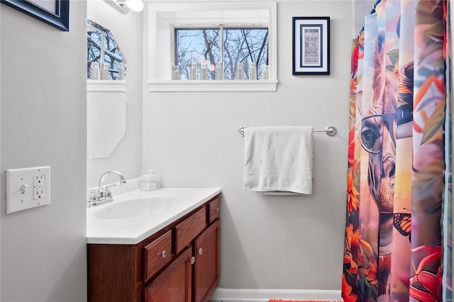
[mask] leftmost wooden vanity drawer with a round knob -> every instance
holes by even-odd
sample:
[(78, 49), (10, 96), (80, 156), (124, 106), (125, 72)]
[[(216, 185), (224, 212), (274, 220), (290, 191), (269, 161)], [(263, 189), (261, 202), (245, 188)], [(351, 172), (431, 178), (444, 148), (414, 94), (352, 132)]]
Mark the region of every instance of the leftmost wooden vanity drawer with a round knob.
[(143, 254), (143, 280), (146, 281), (172, 259), (172, 231), (143, 247)]

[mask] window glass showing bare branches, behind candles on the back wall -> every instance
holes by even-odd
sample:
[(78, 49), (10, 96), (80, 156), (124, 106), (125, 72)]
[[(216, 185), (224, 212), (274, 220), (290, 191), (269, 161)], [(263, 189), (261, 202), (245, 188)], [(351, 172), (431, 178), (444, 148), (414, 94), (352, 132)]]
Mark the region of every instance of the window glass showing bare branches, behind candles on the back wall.
[(268, 65), (268, 28), (175, 28), (174, 43), (178, 79), (191, 78), (191, 63), (198, 79), (202, 65), (206, 79), (262, 79)]

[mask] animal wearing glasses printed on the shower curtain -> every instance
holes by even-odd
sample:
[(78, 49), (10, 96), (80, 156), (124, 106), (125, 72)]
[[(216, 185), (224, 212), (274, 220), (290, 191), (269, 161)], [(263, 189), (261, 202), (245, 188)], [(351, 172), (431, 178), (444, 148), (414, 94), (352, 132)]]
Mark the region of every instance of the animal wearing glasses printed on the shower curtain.
[(380, 31), (372, 59), (372, 106), (361, 121), (361, 145), (369, 153), (367, 181), (380, 213), (377, 301), (389, 301), (399, 86), (397, 72), (385, 71), (384, 56), (384, 31)]

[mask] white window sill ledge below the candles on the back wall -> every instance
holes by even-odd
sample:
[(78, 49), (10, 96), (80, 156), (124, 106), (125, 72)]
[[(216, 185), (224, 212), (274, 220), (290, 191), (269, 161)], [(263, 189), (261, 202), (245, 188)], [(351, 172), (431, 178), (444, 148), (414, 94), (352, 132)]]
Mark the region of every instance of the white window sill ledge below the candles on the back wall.
[(148, 91), (276, 91), (277, 79), (148, 80)]

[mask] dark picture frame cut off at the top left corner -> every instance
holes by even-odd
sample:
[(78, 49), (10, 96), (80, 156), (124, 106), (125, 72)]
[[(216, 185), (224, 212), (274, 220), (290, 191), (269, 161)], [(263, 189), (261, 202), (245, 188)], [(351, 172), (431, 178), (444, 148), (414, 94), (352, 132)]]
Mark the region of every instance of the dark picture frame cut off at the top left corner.
[(1, 3), (11, 6), (13, 9), (37, 18), (40, 21), (48, 23), (50, 26), (63, 31), (70, 30), (70, 0), (48, 0), (46, 5), (53, 7), (55, 10), (46, 9), (40, 6), (39, 1), (33, 0), (0, 0)]

